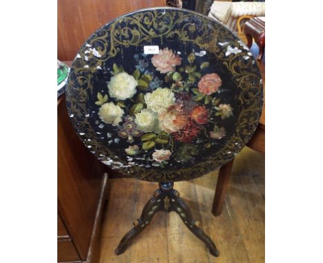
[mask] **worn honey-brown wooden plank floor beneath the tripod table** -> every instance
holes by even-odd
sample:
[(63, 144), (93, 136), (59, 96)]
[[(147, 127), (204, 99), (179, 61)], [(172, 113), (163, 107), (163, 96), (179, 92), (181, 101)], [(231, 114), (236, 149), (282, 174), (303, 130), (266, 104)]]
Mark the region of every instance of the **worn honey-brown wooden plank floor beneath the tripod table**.
[(220, 251), (213, 257), (176, 213), (159, 212), (124, 254), (115, 255), (123, 235), (133, 227), (157, 183), (111, 180), (110, 201), (101, 229), (100, 263), (260, 263), (264, 262), (264, 156), (247, 147), (235, 158), (224, 211), (211, 213), (217, 172), (185, 182), (175, 189)]

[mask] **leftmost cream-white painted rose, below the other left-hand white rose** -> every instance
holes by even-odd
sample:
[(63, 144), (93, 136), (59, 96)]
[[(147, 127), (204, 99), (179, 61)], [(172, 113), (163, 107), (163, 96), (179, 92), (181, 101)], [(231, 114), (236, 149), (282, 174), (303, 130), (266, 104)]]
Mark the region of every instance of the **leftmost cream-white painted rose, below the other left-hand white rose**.
[(114, 103), (104, 103), (99, 109), (99, 116), (104, 123), (117, 126), (121, 121), (121, 117), (124, 115), (124, 110)]

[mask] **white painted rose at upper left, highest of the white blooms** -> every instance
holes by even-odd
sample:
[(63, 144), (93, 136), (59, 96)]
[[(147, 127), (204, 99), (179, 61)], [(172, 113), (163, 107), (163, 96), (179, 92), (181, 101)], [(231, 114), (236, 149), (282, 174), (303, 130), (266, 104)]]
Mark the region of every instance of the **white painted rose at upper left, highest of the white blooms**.
[(126, 72), (121, 72), (112, 76), (108, 83), (109, 94), (112, 98), (124, 101), (126, 98), (131, 98), (137, 92), (137, 81)]

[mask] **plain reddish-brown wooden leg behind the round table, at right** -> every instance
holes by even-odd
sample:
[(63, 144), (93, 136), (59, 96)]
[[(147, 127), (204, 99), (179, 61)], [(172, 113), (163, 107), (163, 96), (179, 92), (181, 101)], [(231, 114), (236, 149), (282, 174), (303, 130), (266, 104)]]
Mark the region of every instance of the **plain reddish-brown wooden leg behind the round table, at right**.
[(226, 190), (228, 189), (228, 182), (231, 176), (233, 160), (219, 169), (219, 177), (217, 178), (217, 187), (215, 189), (215, 196), (212, 207), (212, 213), (215, 216), (221, 215), (222, 213), (224, 198), (226, 197)]

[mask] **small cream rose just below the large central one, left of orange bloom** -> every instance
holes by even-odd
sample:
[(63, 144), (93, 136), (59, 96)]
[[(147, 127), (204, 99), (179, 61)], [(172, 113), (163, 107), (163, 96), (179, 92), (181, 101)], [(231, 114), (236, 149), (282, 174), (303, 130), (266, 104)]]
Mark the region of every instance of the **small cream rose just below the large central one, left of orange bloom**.
[(141, 112), (135, 114), (135, 123), (137, 129), (144, 132), (153, 132), (158, 129), (157, 114), (150, 109), (141, 109)]

